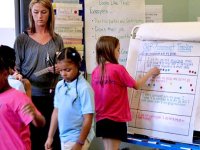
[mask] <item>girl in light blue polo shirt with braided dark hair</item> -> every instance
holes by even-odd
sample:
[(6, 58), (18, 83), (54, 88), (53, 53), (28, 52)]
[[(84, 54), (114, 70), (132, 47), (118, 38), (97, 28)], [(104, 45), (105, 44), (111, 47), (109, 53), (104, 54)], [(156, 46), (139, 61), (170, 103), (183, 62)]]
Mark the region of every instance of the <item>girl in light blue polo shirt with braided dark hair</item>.
[(74, 48), (64, 48), (57, 57), (60, 75), (55, 89), (54, 110), (45, 149), (51, 149), (58, 127), (62, 150), (87, 150), (94, 137), (94, 95), (80, 73), (81, 57)]

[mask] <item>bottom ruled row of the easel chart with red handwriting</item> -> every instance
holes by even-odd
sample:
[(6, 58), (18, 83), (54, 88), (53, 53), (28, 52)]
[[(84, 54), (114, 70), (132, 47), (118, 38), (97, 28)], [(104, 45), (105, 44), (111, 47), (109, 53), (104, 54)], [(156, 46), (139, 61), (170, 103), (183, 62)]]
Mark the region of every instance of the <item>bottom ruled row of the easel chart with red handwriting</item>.
[[(133, 120), (128, 124), (130, 127), (188, 135), (190, 117), (146, 111), (132, 111), (132, 116), (134, 116)], [(152, 124), (152, 122), (155, 122), (155, 124)]]

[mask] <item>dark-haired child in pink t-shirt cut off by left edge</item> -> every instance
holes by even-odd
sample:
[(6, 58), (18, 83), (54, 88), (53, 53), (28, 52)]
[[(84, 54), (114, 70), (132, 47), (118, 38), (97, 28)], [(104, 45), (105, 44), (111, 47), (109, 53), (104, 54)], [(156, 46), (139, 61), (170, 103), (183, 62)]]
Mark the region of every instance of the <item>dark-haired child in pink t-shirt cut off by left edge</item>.
[(29, 124), (41, 127), (45, 119), (26, 94), (10, 87), (9, 70), (15, 66), (10, 50), (0, 46), (0, 150), (30, 150)]

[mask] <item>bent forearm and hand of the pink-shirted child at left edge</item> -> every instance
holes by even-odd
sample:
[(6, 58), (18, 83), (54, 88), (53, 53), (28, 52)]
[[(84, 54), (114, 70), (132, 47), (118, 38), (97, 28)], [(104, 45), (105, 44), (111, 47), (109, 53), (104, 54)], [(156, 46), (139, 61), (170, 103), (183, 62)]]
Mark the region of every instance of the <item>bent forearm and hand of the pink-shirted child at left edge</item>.
[(33, 103), (29, 103), (23, 106), (22, 111), (33, 117), (32, 123), (35, 127), (43, 127), (46, 123), (45, 118), (40, 114)]

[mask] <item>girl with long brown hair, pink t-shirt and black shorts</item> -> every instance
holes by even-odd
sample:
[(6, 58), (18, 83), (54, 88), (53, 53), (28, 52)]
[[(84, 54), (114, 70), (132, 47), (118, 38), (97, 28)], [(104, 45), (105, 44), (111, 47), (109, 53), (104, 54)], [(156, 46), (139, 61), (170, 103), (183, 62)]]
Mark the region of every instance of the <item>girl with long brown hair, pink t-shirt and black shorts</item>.
[(96, 44), (98, 66), (92, 72), (92, 87), (95, 93), (96, 136), (103, 138), (105, 150), (118, 150), (121, 141), (127, 140), (126, 122), (131, 120), (127, 87), (139, 89), (148, 78), (160, 70), (150, 69), (135, 81), (118, 63), (119, 40), (102, 36)]

